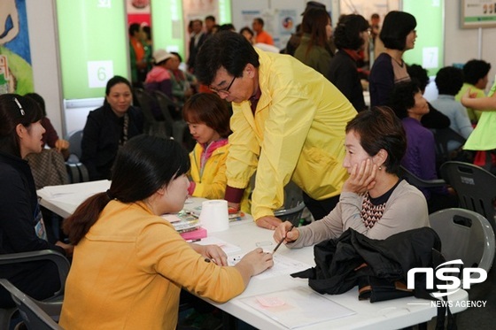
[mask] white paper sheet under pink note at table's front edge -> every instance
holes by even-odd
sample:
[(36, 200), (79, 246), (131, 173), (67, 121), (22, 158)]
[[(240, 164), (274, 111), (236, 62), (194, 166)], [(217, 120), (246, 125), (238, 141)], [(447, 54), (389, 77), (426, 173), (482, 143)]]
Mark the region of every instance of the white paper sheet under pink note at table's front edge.
[[(283, 305), (266, 307), (260, 303), (261, 299), (277, 300), (283, 302)], [(319, 295), (311, 288), (301, 287), (249, 296), (241, 299), (241, 302), (289, 329), (310, 326), (335, 318), (345, 318), (356, 313), (333, 302), (325, 295)]]

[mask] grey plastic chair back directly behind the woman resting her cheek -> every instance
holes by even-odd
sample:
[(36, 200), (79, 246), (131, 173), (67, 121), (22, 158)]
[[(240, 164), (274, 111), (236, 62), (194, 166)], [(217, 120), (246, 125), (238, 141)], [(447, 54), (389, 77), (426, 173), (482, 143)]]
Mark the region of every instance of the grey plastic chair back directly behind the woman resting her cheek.
[(480, 267), (489, 272), (495, 241), (487, 219), (475, 211), (453, 208), (434, 212), (429, 220), (441, 239), (446, 261), (461, 259), (464, 267)]

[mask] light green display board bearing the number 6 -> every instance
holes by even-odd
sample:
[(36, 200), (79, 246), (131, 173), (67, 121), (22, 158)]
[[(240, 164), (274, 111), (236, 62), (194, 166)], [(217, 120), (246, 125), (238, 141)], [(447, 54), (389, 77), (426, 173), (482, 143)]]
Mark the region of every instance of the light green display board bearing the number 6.
[(129, 78), (123, 1), (57, 0), (64, 99), (105, 96), (113, 75)]

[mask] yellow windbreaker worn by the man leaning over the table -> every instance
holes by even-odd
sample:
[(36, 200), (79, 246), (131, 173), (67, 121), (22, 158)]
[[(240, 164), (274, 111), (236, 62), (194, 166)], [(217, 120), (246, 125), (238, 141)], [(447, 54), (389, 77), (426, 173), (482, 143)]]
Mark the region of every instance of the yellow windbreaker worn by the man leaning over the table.
[(233, 103), (227, 159), (228, 185), (245, 188), (256, 171), (253, 219), (274, 215), (293, 180), (308, 196), (337, 196), (347, 172), (345, 126), (353, 105), (321, 73), (291, 56), (257, 50), (261, 97)]

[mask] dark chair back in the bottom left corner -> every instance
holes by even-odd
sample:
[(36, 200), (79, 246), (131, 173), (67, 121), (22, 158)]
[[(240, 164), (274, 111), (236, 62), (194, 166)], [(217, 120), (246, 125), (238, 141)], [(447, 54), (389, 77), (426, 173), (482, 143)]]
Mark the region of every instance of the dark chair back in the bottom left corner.
[(43, 310), (43, 305), (39, 305), (34, 299), (23, 294), (18, 288), (14, 287), (9, 280), (0, 279), (0, 285), (11, 293), (12, 300), (17, 304), (20, 316), (27, 326), (27, 329), (62, 329), (62, 327), (58, 326), (57, 322), (50, 317), (47, 311)]

